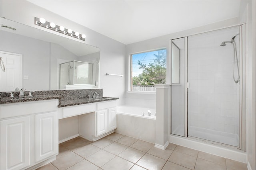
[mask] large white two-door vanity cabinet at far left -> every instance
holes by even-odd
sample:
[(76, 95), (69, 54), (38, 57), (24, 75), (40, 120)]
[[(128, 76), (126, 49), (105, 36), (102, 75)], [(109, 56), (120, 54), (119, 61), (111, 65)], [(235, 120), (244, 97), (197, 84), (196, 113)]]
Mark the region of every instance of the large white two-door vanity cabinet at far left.
[(58, 99), (1, 104), (0, 169), (34, 169), (58, 154)]

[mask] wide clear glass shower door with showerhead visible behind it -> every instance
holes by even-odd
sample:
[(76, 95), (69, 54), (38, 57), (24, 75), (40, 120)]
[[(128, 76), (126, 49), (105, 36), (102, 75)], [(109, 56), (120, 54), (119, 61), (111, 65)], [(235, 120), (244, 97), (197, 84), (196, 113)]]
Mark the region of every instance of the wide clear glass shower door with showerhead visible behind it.
[(240, 147), (241, 34), (238, 26), (188, 37), (188, 137)]

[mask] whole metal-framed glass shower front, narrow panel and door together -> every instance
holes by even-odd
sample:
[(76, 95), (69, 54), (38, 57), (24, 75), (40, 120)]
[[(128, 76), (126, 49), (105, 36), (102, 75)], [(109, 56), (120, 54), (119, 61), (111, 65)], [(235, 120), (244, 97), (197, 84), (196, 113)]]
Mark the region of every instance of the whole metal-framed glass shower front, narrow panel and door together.
[(171, 43), (171, 133), (242, 149), (242, 25)]

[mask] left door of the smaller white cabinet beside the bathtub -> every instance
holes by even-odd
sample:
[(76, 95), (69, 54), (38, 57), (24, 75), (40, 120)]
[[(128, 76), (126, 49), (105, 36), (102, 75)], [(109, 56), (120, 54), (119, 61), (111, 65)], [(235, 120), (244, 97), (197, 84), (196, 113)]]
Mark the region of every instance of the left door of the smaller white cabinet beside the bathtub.
[(102, 135), (107, 132), (107, 110), (96, 112), (96, 135)]

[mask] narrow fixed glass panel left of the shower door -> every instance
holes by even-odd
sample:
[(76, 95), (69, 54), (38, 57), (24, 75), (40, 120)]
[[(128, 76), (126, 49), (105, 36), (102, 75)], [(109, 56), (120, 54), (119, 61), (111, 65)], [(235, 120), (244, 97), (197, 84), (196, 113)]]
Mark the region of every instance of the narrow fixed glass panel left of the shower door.
[(172, 134), (185, 135), (184, 127), (184, 101), (187, 81), (185, 79), (186, 67), (185, 38), (172, 40)]

